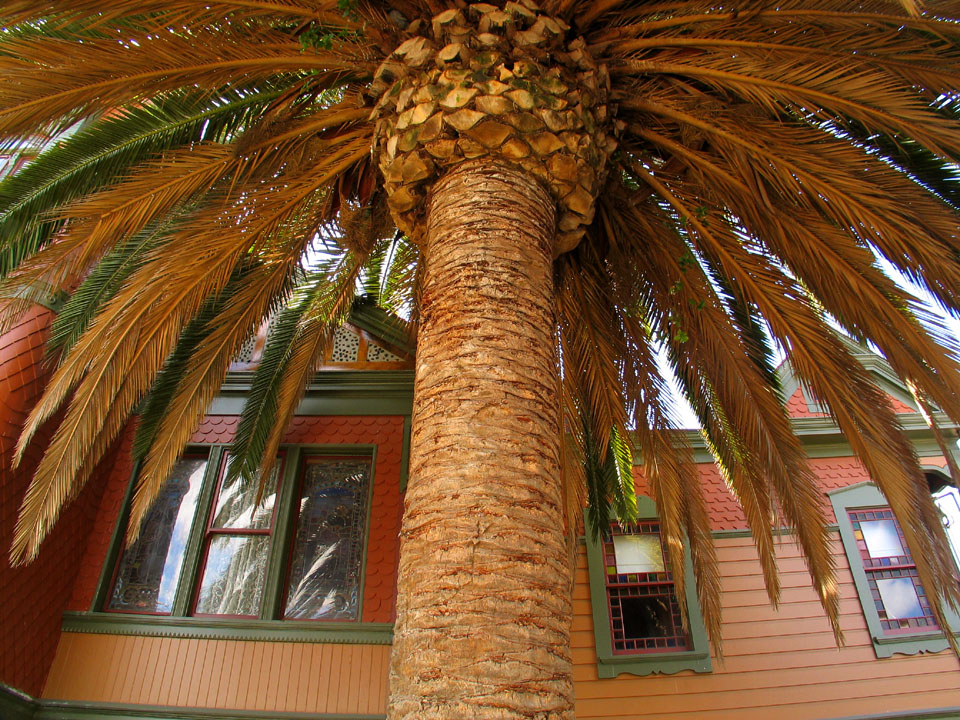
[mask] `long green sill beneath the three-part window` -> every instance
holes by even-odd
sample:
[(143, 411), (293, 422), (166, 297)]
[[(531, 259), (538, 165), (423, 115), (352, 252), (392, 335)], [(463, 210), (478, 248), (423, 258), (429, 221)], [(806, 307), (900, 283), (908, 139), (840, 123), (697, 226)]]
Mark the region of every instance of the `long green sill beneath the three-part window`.
[(247, 620), (66, 612), (63, 632), (142, 635), (196, 640), (390, 645), (392, 623), (344, 623), (310, 620)]

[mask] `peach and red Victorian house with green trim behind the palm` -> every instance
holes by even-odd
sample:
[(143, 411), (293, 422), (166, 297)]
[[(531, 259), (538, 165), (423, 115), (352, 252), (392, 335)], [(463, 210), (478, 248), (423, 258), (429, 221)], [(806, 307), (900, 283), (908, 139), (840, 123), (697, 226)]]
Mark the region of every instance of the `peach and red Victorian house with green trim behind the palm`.
[[(42, 383), (40, 331), (51, 312), (38, 309), (0, 339), (5, 548), (38, 460), (28, 453), (22, 470), (10, 469), (13, 437)], [(412, 348), (377, 311), (354, 312), (255, 509), (250, 488), (225, 482), (225, 448), (264, 332), (238, 358), (137, 543), (124, 534), (135, 473), (128, 429), (38, 560), (12, 569), (4, 554), (0, 717), (384, 716)], [(940, 449), (882, 359), (861, 359), (900, 413), (960, 548), (960, 495)], [(684, 630), (656, 508), (641, 498), (635, 526), (578, 545), (581, 720), (960, 718), (960, 665), (885, 500), (789, 368), (781, 372), (834, 523), (845, 647), (785, 533), (781, 604), (769, 606), (743, 513), (691, 433), (722, 568), (724, 657), (711, 655), (692, 593)]]

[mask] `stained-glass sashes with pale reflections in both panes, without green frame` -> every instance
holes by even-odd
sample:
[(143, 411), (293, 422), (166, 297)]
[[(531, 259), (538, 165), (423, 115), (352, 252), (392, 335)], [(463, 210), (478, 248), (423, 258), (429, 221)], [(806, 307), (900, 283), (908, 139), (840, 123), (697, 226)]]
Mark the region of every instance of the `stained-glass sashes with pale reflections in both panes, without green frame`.
[(938, 629), (893, 511), (870, 508), (851, 510), (848, 514), (884, 632), (895, 635)]

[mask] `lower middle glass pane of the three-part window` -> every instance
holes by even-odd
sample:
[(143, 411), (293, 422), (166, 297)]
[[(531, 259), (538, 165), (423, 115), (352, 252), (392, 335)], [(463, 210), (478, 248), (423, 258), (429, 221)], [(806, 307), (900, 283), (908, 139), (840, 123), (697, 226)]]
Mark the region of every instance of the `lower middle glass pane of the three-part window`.
[(214, 535), (195, 612), (259, 615), (269, 547), (268, 535)]

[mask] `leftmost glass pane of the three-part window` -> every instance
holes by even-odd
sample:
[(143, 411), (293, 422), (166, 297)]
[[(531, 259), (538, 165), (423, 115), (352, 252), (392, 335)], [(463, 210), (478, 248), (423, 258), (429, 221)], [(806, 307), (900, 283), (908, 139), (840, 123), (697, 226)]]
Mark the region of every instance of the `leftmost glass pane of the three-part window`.
[(207, 461), (184, 458), (147, 513), (140, 538), (124, 549), (108, 610), (169, 613)]

